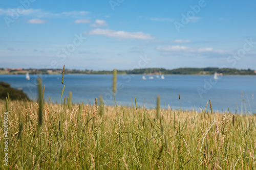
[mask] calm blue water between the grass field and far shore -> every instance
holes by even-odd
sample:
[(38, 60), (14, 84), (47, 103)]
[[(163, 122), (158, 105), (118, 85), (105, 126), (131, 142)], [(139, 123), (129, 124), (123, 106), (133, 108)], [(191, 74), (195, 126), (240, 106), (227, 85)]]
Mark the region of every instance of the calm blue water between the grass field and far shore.
[[(41, 75), (45, 88), (45, 99), (60, 102), (62, 90), (62, 75)], [(142, 75), (118, 75), (116, 101), (118, 105), (135, 105), (134, 98), (139, 106), (155, 107), (157, 96), (161, 96), (161, 106), (173, 108), (199, 110), (211, 100), (214, 110), (256, 112), (256, 103), (253, 94), (256, 93), (255, 76), (222, 76), (214, 80), (213, 76), (174, 76), (166, 75), (165, 79), (142, 80)], [(0, 81), (11, 84), (14, 88), (23, 88), (29, 98), (37, 97), (37, 75), (31, 75), (26, 80), (25, 75), (0, 75)], [(103, 96), (106, 105), (114, 105), (112, 93), (112, 75), (65, 75), (66, 85), (63, 96), (72, 91), (72, 100), (75, 103), (94, 103), (95, 98)], [(243, 93), (243, 95), (242, 95)], [(179, 94), (181, 100), (179, 100)], [(63, 97), (64, 98), (64, 97)], [(63, 100), (63, 99), (62, 99)], [(243, 101), (243, 102), (242, 102)], [(209, 107), (207, 107), (209, 109)]]

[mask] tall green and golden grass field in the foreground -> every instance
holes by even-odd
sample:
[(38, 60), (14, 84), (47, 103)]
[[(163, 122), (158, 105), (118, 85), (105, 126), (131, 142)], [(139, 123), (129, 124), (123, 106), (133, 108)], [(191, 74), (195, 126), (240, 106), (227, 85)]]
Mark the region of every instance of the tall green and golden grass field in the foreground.
[[(253, 169), (253, 115), (0, 101), (12, 169)], [(8, 107), (8, 108), (7, 108)], [(40, 120), (40, 112), (42, 120)], [(41, 126), (39, 125), (41, 122)], [(6, 168), (1, 161), (1, 168)]]

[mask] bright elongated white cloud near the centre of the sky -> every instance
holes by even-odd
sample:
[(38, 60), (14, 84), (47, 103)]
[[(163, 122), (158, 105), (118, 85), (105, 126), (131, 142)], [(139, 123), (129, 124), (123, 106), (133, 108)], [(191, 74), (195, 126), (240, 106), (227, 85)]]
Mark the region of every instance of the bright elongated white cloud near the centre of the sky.
[(123, 39), (154, 39), (150, 34), (143, 32), (125, 32), (125, 31), (114, 31), (108, 29), (95, 29), (88, 33), (89, 35), (104, 35), (106, 37), (115, 37)]

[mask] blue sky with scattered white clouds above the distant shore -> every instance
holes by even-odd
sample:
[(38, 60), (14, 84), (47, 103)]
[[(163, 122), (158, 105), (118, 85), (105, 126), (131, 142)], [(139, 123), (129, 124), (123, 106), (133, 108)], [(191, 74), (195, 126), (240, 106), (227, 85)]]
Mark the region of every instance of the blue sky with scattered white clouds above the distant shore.
[(252, 0), (5, 0), (0, 67), (256, 69), (255, 7)]

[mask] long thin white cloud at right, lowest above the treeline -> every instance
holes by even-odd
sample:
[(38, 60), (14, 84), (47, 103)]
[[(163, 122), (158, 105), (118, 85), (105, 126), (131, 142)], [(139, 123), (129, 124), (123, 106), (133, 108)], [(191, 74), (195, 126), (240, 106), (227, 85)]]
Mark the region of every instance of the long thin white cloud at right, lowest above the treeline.
[(168, 46), (158, 46), (158, 51), (163, 52), (165, 54), (166, 52), (184, 52), (184, 53), (230, 53), (230, 51), (227, 50), (214, 50), (214, 48), (211, 47), (205, 47), (205, 48), (195, 48), (195, 47), (188, 47), (188, 46), (180, 46), (180, 45), (168, 45)]

